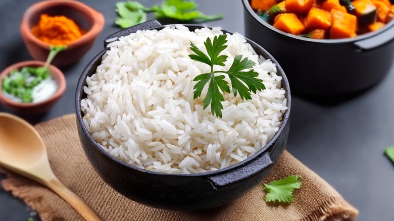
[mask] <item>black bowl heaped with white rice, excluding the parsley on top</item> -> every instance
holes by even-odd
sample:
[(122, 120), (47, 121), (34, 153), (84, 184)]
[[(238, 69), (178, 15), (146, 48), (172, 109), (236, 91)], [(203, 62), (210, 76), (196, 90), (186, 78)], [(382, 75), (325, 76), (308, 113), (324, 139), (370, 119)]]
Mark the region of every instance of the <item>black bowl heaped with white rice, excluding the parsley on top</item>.
[[(220, 34), (228, 58), (217, 68), (242, 54), (265, 85), (249, 100), (223, 92), (221, 118), (203, 107), (207, 88), (193, 99), (193, 79), (211, 67), (188, 57), (190, 42), (204, 51)], [(78, 82), (76, 114), (86, 156), (116, 191), (154, 207), (207, 209), (271, 171), (287, 142), (290, 89), (275, 59), (240, 34), (149, 21), (106, 38)]]

